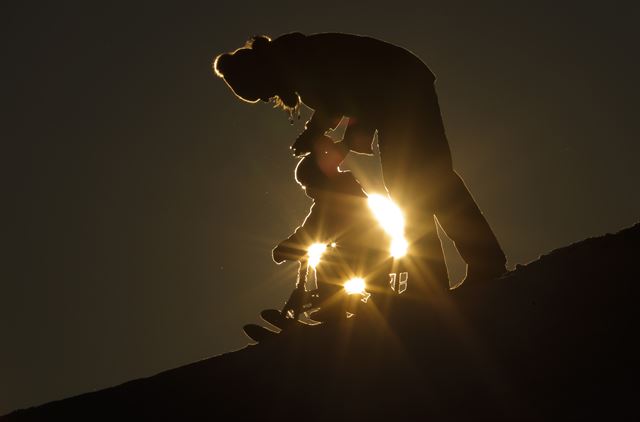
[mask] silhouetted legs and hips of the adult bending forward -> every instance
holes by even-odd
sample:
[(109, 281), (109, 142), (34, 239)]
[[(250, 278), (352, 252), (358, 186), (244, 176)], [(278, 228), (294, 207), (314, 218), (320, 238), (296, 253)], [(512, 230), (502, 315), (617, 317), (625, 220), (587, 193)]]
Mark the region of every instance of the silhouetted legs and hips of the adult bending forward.
[[(432, 88), (407, 110), (384, 122), (378, 133), (382, 171), (392, 197), (407, 212), (415, 251), (428, 267), (435, 242), (423, 236), (433, 214), (468, 264), (468, 277), (495, 277), (505, 256), (464, 182), (453, 171), (437, 96)], [(436, 236), (437, 238), (437, 236)], [(441, 247), (440, 247), (441, 251)], [(444, 263), (444, 258), (442, 259)]]

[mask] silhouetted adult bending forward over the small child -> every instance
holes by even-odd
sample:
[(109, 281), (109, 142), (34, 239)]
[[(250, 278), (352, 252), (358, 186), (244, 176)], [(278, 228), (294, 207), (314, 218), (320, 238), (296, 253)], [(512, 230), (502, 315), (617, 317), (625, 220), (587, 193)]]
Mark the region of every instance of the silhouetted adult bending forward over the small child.
[(447, 280), (434, 214), (468, 264), (467, 281), (505, 272), (495, 235), (453, 170), (435, 76), (415, 55), (364, 36), (291, 33), (254, 37), (218, 56), (214, 70), (247, 102), (275, 98), (290, 112), (301, 102), (314, 110), (292, 146), (296, 155), (309, 152), (343, 116), (351, 151), (371, 154), (377, 131), (384, 183), (405, 212), (422, 278)]

